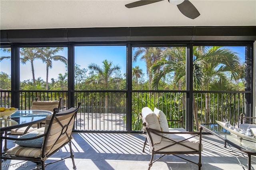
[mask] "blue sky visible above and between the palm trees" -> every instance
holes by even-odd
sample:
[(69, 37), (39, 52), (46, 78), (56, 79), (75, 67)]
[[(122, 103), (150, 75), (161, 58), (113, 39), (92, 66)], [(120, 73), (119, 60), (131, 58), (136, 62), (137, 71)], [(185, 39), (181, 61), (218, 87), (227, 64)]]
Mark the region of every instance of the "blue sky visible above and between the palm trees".
[[(244, 61), (245, 47), (228, 47), (232, 51), (238, 53), (241, 61)], [(64, 47), (64, 51), (61, 51), (59, 55), (67, 57), (68, 51)], [(8, 56), (10, 54), (0, 52), (0, 56)], [(80, 68), (88, 68), (91, 63), (96, 63), (102, 66), (102, 61), (107, 59), (112, 61), (112, 64), (119, 65), (121, 67), (122, 75), (126, 73), (126, 46), (77, 46), (75, 47), (75, 63), (80, 65)], [(138, 57), (137, 62), (132, 64), (132, 67), (139, 66), (142, 68), (146, 75), (146, 64)], [(35, 77), (41, 77), (46, 80), (46, 64), (42, 61), (34, 61)], [(20, 64), (20, 80), (32, 79), (31, 64)], [(2, 60), (0, 62), (0, 72), (6, 72), (10, 74), (10, 60)], [(58, 74), (64, 74), (66, 72), (65, 65), (60, 61), (53, 61), (52, 69), (49, 70), (49, 82), (51, 78), (57, 79)], [(89, 72), (89, 71), (88, 71)]]

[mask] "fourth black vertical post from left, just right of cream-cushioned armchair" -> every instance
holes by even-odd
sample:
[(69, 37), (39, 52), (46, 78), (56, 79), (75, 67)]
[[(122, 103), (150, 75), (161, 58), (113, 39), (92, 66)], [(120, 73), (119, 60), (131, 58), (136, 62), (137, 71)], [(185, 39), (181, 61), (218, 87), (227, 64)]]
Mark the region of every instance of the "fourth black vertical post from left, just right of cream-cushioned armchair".
[(193, 44), (186, 49), (186, 130), (193, 131)]

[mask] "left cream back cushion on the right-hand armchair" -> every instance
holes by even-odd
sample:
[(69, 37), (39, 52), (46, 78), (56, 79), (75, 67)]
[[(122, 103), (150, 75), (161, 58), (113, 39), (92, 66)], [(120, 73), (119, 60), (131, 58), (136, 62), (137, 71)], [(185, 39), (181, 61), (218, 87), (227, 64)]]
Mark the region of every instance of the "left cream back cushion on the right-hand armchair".
[[(161, 128), (158, 122), (158, 117), (149, 107), (143, 107), (141, 114), (142, 114), (143, 121), (146, 122), (146, 124), (148, 125), (148, 128), (161, 131)], [(153, 144), (161, 142), (162, 140), (161, 136), (153, 133), (151, 133), (150, 135), (152, 137)]]

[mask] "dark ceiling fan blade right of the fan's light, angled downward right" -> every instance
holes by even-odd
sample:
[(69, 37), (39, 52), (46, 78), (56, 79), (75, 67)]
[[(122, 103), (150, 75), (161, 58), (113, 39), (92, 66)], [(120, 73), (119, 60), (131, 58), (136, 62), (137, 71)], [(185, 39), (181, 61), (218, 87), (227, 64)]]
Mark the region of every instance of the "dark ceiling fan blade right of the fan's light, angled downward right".
[(178, 4), (177, 6), (180, 12), (188, 18), (195, 19), (200, 16), (200, 13), (196, 7), (189, 0), (184, 0), (184, 2)]

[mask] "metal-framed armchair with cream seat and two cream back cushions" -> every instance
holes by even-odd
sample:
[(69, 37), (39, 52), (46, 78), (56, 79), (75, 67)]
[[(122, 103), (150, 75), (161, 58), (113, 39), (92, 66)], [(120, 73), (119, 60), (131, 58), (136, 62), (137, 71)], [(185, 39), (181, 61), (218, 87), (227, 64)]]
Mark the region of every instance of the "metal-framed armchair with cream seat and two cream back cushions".
[[(144, 152), (145, 146), (149, 145), (149, 151), (152, 154), (148, 170), (150, 170), (154, 162), (170, 154), (192, 162), (198, 165), (199, 170), (201, 169), (201, 127), (199, 132), (188, 132), (183, 128), (169, 128), (165, 114), (156, 108), (152, 111), (149, 107), (144, 107), (141, 115), (143, 126), (146, 130), (146, 140), (148, 141), (148, 143), (144, 143), (142, 151)], [(153, 161), (155, 154), (161, 154), (162, 156)], [(198, 163), (177, 154), (198, 154)]]

